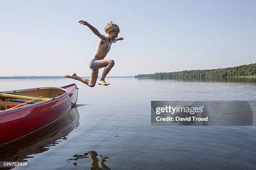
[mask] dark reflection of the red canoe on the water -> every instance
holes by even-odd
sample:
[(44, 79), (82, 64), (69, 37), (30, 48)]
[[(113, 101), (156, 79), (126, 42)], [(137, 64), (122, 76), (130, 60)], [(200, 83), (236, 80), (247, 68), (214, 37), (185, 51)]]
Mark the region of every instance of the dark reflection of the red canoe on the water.
[(79, 126), (77, 108), (72, 108), (64, 116), (44, 128), (37, 130), (23, 138), (0, 146), (0, 161), (19, 161), (33, 158), (31, 154), (38, 154), (50, 149), (67, 139), (67, 135)]

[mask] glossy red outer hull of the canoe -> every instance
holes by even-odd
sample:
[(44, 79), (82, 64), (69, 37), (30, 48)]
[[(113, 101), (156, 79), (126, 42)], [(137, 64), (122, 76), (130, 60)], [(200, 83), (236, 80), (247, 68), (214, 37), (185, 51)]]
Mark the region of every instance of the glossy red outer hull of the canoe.
[(77, 102), (75, 84), (64, 86), (67, 93), (29, 107), (0, 114), (0, 145), (32, 133), (67, 113)]

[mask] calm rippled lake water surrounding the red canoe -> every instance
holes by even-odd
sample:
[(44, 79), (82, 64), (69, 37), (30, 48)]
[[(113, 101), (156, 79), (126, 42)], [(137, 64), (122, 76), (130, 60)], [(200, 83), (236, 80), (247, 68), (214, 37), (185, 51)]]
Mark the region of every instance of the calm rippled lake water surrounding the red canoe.
[[(0, 148), (26, 170), (255, 170), (256, 126), (151, 126), (151, 100), (256, 101), (253, 78), (0, 80), (1, 91), (76, 83), (77, 107), (54, 124)], [(14, 168), (17, 169), (17, 168)]]

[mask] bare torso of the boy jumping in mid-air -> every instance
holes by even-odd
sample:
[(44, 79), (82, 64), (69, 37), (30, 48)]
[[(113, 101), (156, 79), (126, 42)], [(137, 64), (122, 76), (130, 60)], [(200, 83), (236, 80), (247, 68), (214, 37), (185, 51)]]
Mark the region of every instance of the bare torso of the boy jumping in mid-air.
[(99, 60), (104, 59), (110, 50), (111, 44), (112, 44), (111, 40), (106, 40), (105, 42), (100, 40), (98, 42), (98, 45), (96, 47), (93, 57), (96, 57)]

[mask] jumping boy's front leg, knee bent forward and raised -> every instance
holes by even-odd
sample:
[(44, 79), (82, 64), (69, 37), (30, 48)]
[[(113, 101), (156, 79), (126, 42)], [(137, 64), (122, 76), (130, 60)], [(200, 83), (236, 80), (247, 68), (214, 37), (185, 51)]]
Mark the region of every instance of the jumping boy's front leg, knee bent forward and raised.
[(105, 82), (105, 77), (114, 65), (115, 65), (114, 60), (110, 60), (110, 59), (97, 60), (97, 64), (94, 67), (95, 69), (105, 67), (100, 77), (100, 80), (98, 81), (99, 85), (110, 85), (110, 83)]

